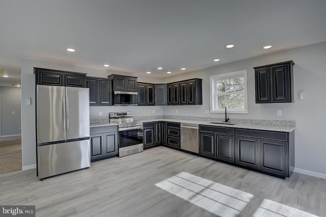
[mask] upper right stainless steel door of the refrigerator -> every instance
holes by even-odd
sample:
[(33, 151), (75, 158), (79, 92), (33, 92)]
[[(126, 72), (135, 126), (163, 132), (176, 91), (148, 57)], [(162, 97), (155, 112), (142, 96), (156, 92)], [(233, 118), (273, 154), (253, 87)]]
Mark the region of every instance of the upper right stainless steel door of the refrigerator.
[(89, 88), (66, 87), (66, 138), (90, 136)]

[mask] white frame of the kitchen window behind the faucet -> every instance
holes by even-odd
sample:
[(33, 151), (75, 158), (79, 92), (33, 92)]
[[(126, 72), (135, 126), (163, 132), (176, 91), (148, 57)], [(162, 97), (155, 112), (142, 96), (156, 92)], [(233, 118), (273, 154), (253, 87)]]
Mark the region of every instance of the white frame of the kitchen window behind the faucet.
[[(209, 99), (210, 99), (210, 112), (211, 113), (224, 113), (225, 109), (217, 109), (216, 103), (215, 103), (215, 96), (216, 96), (216, 81), (218, 80), (225, 80), (230, 78), (237, 78), (237, 77), (243, 77), (243, 85), (244, 85), (244, 91), (243, 91), (243, 103), (244, 108), (243, 109), (229, 109), (227, 108), (228, 113), (248, 113), (248, 85), (247, 85), (247, 70), (240, 70), (236, 72), (229, 72), (219, 75), (212, 75), (209, 76)], [(214, 104), (213, 104), (214, 102)]]

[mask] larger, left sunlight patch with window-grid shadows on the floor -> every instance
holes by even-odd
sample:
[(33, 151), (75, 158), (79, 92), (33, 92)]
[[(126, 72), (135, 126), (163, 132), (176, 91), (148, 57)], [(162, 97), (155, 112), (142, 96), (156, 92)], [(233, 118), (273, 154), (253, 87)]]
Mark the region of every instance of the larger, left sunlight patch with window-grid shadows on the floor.
[(178, 173), (155, 185), (221, 217), (240, 214), (254, 197), (247, 192), (186, 172)]

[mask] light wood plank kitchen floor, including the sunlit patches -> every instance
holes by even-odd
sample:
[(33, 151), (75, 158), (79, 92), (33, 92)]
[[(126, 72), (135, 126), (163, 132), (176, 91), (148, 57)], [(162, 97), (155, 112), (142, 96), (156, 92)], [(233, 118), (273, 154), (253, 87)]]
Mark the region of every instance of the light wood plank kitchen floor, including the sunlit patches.
[(36, 170), (0, 174), (0, 183), (0, 204), (36, 205), (36, 216), (326, 216), (325, 179), (283, 180), (162, 146), (43, 181)]

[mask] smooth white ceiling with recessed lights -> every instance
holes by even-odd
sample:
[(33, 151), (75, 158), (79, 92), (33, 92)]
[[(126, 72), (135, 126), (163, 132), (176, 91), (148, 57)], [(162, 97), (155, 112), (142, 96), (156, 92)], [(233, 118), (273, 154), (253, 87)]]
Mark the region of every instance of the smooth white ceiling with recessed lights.
[(0, 74), (11, 76), (0, 84), (20, 82), (21, 58), (173, 76), (326, 41), (325, 11), (325, 0), (0, 0)]

